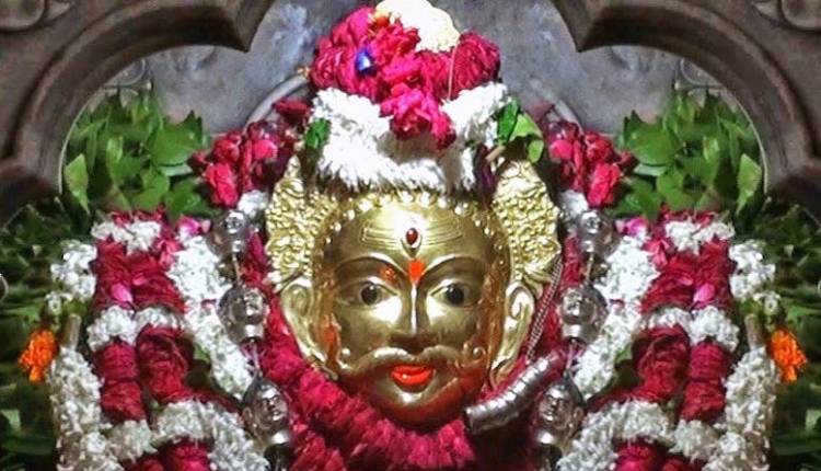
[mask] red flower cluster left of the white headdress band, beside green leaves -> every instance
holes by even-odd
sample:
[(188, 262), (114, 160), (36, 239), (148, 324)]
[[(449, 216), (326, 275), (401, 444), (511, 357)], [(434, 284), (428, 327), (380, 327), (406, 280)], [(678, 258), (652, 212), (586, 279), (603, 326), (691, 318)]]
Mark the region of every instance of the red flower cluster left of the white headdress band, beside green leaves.
[(203, 175), (215, 206), (233, 208), (244, 193), (268, 189), (285, 173), (309, 108), (291, 100), (275, 108), (280, 115), (277, 123), (257, 122), (244, 131), (228, 133), (210, 152), (192, 157), (189, 164)]

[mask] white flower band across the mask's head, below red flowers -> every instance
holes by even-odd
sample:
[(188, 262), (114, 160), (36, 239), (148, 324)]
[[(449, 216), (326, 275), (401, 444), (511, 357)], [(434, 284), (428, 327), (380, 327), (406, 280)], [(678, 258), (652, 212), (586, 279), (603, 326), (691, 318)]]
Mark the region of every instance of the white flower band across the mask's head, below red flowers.
[(331, 134), (317, 163), (319, 173), (338, 179), (352, 189), (425, 188), (448, 193), (471, 191), (476, 184), (471, 145), (492, 148), (497, 134), (494, 119), (509, 102), (507, 88), (490, 83), (463, 91), (446, 102), (455, 141), (432, 150), (427, 136), (400, 140), (391, 133), (391, 118), (367, 97), (337, 89), (322, 90), (313, 102), (313, 119), (331, 122)]

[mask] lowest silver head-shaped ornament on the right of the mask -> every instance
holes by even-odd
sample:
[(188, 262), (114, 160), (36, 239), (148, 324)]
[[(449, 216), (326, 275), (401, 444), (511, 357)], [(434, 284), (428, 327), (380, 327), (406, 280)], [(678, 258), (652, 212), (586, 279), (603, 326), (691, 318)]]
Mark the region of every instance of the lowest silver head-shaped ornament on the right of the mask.
[(541, 453), (548, 458), (545, 461), (568, 450), (583, 417), (583, 400), (569, 378), (554, 382), (542, 393), (536, 404), (533, 439)]

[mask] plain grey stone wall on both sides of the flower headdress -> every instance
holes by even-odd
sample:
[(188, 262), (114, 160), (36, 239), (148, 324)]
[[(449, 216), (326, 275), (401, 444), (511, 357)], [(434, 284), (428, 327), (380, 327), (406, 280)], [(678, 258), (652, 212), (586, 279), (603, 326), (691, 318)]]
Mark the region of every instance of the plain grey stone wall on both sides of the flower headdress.
[[(215, 131), (235, 128), (279, 82), (310, 65), (322, 34), (356, 0), (280, 0), (271, 5), (247, 54), (212, 46), (181, 47), (144, 60), (162, 102), (177, 117), (195, 110)], [(506, 82), (525, 105), (566, 104), (586, 126), (613, 131), (633, 110), (657, 113), (679, 59), (646, 47), (604, 47), (579, 54), (556, 8), (544, 0), (438, 0), (460, 28), (502, 49)], [(132, 73), (135, 68), (126, 73)]]

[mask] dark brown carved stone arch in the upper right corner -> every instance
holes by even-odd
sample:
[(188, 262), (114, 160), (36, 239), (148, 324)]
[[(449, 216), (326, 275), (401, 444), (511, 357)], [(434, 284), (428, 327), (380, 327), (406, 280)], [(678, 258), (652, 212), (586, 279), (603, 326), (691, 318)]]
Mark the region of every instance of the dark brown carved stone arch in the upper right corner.
[[(580, 50), (641, 45), (678, 54), (745, 108), (765, 152), (766, 188), (821, 217), (821, 35), (765, 18), (755, 0), (554, 0)], [(814, 90), (819, 90), (814, 88)]]

